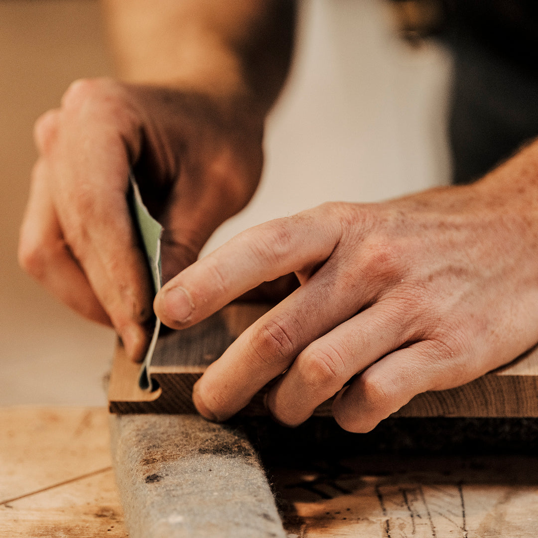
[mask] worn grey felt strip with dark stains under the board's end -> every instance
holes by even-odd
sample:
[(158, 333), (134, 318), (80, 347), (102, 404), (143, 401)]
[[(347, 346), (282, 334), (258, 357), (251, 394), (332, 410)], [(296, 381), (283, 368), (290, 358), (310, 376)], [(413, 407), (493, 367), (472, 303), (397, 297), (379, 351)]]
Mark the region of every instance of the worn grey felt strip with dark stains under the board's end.
[(111, 415), (130, 538), (284, 538), (265, 473), (240, 430), (196, 415)]

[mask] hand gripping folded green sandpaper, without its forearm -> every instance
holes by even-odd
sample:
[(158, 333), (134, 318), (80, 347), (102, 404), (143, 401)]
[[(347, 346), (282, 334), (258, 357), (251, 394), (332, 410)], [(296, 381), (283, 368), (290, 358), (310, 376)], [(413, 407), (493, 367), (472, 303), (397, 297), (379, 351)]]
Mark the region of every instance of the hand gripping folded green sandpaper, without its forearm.
[(256, 189), (263, 118), (247, 110), (108, 79), (72, 84), (36, 124), (20, 263), (80, 314), (114, 325), (141, 358), (152, 289), (126, 203), (129, 168), (164, 225), (167, 280)]

